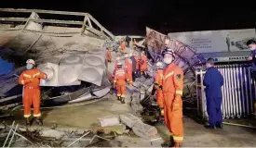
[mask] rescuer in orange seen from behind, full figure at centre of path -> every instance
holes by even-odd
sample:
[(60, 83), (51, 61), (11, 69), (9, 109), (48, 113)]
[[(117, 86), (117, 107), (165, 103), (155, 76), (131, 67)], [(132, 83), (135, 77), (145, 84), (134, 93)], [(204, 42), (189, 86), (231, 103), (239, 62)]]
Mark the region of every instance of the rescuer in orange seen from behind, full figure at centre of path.
[(121, 103), (125, 104), (126, 80), (128, 80), (128, 76), (126, 69), (122, 68), (122, 66), (120, 62), (117, 64), (118, 69), (115, 71), (114, 85), (117, 89), (117, 100), (121, 100)]

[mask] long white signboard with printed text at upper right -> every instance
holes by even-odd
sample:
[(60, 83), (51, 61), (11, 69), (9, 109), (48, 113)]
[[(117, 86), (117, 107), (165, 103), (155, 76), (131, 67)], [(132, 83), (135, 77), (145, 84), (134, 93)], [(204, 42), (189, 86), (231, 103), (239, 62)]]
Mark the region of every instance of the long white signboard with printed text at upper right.
[(168, 37), (190, 45), (197, 53), (249, 51), (246, 43), (255, 39), (255, 29), (175, 32)]

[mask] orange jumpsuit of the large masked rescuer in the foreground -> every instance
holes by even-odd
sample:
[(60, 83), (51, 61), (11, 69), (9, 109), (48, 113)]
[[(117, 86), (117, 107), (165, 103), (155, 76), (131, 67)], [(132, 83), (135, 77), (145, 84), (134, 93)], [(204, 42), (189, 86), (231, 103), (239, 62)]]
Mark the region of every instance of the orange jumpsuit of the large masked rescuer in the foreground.
[(183, 142), (182, 123), (183, 70), (175, 64), (168, 65), (163, 76), (165, 122), (174, 142)]

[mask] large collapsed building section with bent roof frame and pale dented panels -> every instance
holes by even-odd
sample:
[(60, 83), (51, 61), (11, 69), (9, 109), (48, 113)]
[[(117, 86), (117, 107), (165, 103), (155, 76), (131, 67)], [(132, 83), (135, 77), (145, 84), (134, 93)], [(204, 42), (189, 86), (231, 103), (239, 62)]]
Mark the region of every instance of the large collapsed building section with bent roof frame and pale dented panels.
[[(82, 95), (87, 99), (91, 95), (85, 97), (85, 94), (105, 88), (109, 90), (103, 46), (115, 36), (91, 15), (11, 8), (1, 8), (0, 12), (0, 55), (17, 67), (13, 72), (1, 76), (0, 96), (21, 93), (17, 76), (24, 70), (22, 63), (27, 58), (35, 59), (38, 68), (50, 77), (49, 81), (41, 80), (41, 86), (72, 86), (73, 93), (61, 94), (61, 98), (54, 99), (57, 102), (70, 102), (77, 98), (81, 101)], [(55, 15), (57, 18), (73, 17), (80, 20), (52, 19)], [(88, 72), (81, 74), (83, 71)], [(14, 89), (16, 87), (20, 89), (17, 91)], [(107, 90), (103, 93), (108, 93)], [(97, 95), (103, 95), (101, 93)]]

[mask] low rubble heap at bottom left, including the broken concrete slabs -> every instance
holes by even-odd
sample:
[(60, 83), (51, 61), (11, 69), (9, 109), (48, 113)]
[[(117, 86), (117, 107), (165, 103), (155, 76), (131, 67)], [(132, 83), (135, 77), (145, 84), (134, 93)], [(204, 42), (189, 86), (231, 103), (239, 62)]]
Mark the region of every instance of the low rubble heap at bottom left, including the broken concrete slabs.
[(119, 117), (99, 117), (99, 126), (96, 129), (79, 129), (59, 127), (23, 127), (2, 124), (0, 126), (0, 141), (3, 146), (43, 146), (43, 147), (80, 147), (92, 146), (101, 141), (112, 141), (116, 136), (135, 134), (149, 142), (162, 140), (157, 135), (157, 129), (142, 122), (132, 114), (123, 114)]

